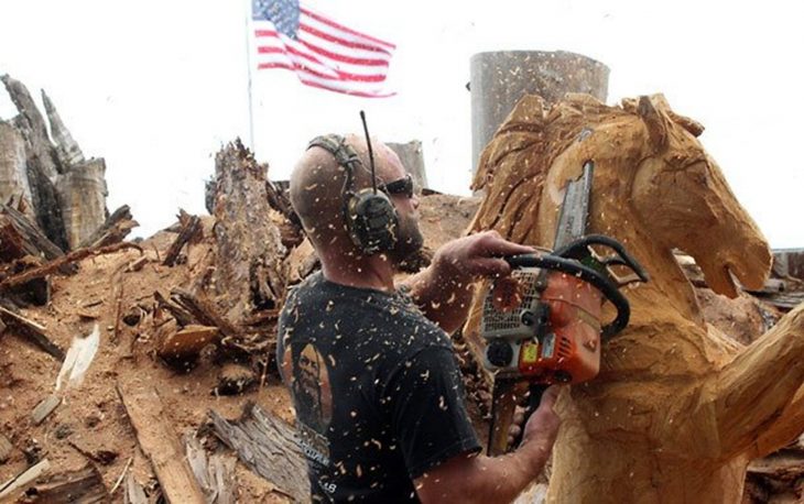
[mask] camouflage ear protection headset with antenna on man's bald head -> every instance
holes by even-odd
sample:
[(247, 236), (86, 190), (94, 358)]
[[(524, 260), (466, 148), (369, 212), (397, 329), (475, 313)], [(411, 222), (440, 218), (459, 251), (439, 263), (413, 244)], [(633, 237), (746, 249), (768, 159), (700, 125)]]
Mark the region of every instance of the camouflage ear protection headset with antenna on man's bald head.
[(341, 190), (346, 229), (355, 245), (365, 254), (371, 255), (389, 252), (396, 245), (399, 216), (391, 199), (384, 193), (377, 190), (374, 158), (371, 143), (368, 141), (368, 132), (367, 143), (371, 161), (372, 187), (360, 190), (355, 188), (355, 171), (365, 169), (365, 167), (355, 149), (346, 143), (344, 136), (337, 134), (316, 136), (309, 142), (307, 149), (324, 149), (346, 171)]

